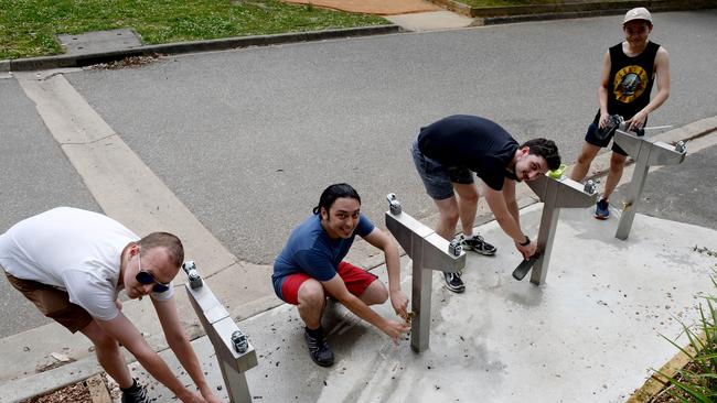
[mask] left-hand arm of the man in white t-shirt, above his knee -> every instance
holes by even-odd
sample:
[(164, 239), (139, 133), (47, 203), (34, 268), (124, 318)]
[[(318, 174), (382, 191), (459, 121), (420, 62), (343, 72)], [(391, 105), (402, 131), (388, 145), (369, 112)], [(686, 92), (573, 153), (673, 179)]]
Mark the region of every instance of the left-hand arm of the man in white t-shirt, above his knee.
[(174, 377), (167, 363), (152, 350), (135, 325), (120, 312), (111, 320), (95, 319), (109, 336), (119, 341), (137, 361), (182, 402), (203, 402)]

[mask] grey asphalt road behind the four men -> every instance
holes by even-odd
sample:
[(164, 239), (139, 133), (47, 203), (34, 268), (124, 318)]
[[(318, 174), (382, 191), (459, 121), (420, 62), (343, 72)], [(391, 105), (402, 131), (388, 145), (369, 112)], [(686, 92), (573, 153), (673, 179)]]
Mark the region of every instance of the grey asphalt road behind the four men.
[[(671, 55), (672, 96), (650, 123), (717, 115), (717, 11), (654, 19), (652, 39)], [(602, 55), (622, 37), (620, 21), (256, 47), (66, 77), (235, 255), (269, 263), (334, 182), (353, 184), (378, 222), (388, 192), (419, 218), (434, 213), (408, 149), (421, 126), (443, 116), (491, 118), (518, 141), (555, 139), (572, 162), (597, 110)], [(98, 209), (18, 84), (0, 80), (0, 168), (12, 173), (0, 178), (0, 231), (52, 206)], [(0, 318), (17, 326), (1, 331), (43, 320), (26, 302), (7, 299)]]

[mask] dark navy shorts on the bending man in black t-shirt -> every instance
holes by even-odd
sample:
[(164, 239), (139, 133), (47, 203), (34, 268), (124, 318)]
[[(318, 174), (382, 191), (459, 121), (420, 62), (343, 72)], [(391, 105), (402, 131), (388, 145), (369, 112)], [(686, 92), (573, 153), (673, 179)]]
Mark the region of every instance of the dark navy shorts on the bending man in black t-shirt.
[(453, 197), (453, 184), (470, 185), (473, 174), (469, 168), (446, 166), (434, 159), (429, 159), (418, 150), (418, 142), (414, 141), (410, 148), (414, 164), (420, 179), (424, 182), (426, 193), (435, 200)]

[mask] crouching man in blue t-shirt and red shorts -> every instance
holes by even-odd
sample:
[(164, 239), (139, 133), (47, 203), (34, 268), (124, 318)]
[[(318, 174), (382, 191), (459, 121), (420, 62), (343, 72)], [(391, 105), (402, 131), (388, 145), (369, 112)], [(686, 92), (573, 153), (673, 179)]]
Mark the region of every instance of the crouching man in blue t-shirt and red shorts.
[[(343, 261), (358, 235), (384, 251), (388, 290), (376, 275)], [(383, 304), (390, 296), (396, 314), (408, 317), (408, 297), (400, 290), (400, 262), (396, 242), (361, 215), (361, 198), (347, 184), (327, 187), (313, 215), (293, 229), (274, 263), (274, 291), (283, 302), (297, 305), (304, 322), (304, 339), (313, 362), (333, 364), (321, 317), (331, 296), (349, 311), (376, 326), (394, 342), (408, 331), (406, 323), (387, 320), (368, 305)]]

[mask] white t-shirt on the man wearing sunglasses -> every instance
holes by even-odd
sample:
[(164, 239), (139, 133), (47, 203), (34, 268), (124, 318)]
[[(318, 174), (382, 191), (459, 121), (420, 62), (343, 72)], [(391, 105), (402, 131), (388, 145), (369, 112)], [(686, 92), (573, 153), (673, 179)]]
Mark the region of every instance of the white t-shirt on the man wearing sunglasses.
[[(0, 236), (0, 266), (24, 280), (67, 291), (69, 301), (100, 320), (119, 314), (115, 305), (122, 249), (139, 240), (114, 219), (57, 207), (24, 219)], [(151, 293), (169, 299), (173, 288)]]

